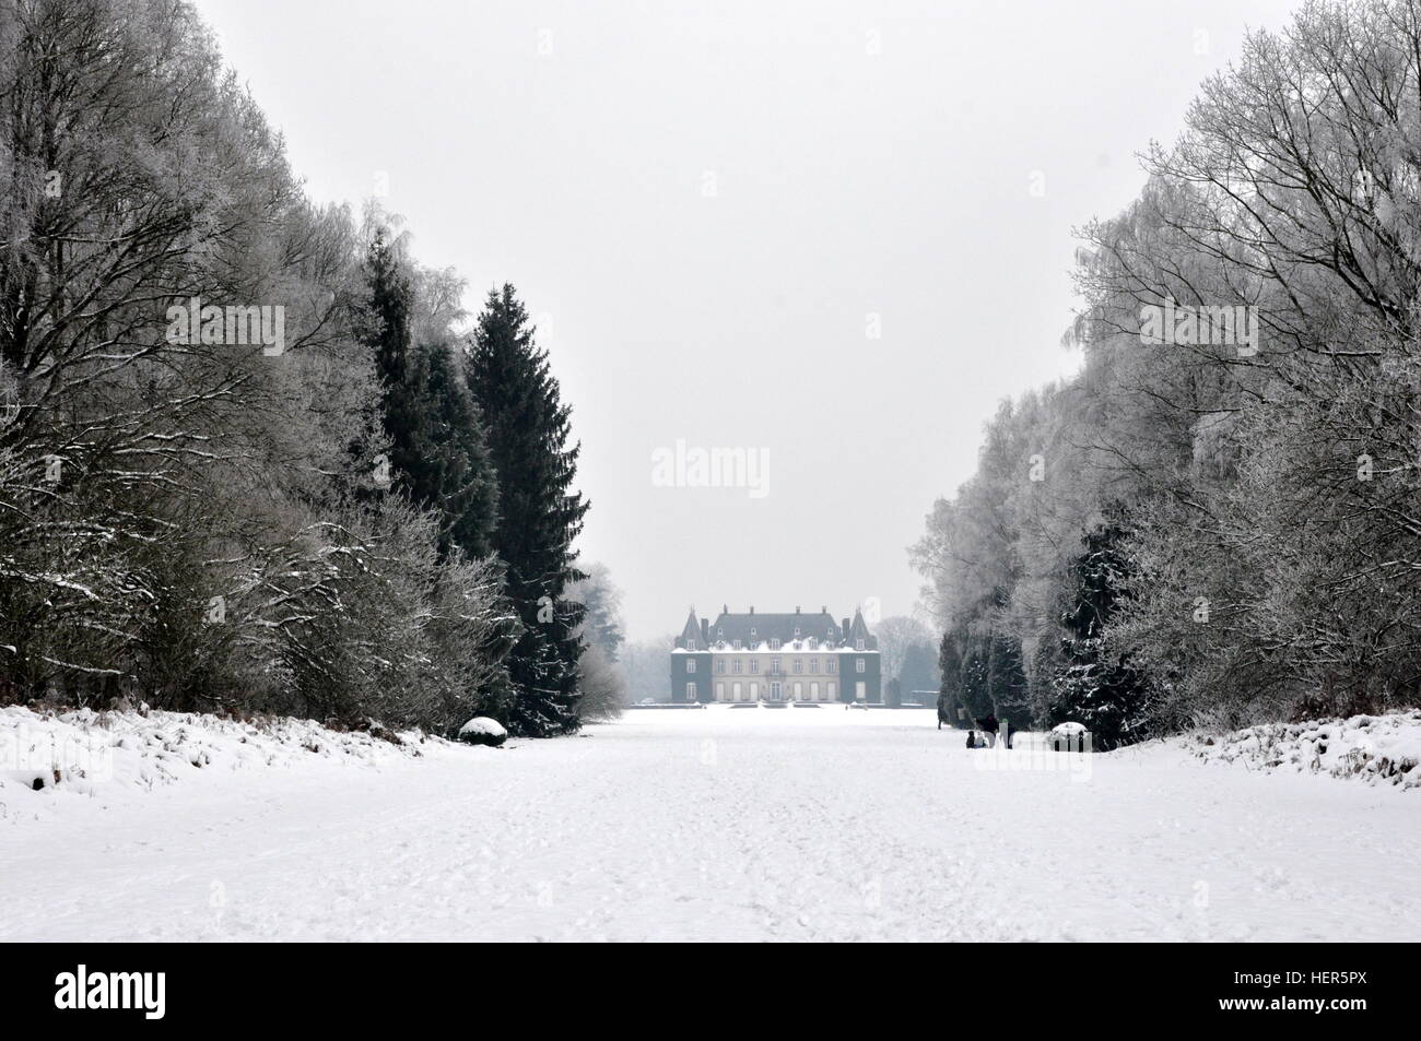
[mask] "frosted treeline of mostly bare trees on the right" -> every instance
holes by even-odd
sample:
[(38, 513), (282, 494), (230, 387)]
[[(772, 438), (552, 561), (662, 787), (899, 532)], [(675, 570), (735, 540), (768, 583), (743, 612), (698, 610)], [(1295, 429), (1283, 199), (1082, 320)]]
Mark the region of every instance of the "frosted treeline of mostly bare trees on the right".
[(1421, 16), (1310, 3), (1083, 230), (1080, 374), (914, 558), (944, 690), (1104, 744), (1418, 702)]

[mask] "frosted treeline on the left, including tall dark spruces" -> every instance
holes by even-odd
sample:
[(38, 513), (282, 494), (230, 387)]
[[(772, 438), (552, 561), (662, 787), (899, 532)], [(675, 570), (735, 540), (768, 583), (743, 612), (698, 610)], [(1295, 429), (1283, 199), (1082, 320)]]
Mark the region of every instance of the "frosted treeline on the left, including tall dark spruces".
[(192, 9), (0, 7), (0, 703), (580, 720), (587, 503), (512, 287), (314, 206)]

